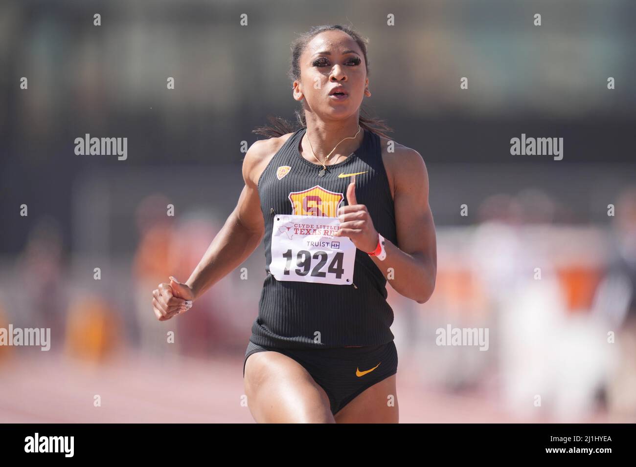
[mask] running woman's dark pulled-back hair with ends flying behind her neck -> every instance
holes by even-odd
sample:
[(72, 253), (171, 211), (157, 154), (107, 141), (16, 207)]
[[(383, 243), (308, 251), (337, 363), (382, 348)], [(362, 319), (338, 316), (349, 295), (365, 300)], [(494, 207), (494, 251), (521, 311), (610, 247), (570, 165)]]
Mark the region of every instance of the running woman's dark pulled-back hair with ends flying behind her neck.
[[(349, 34), (354, 41), (360, 46), (362, 53), (364, 55), (364, 65), (366, 66), (366, 73), (369, 74), (369, 60), (366, 57), (366, 45), (367, 39), (360, 36), (354, 29), (349, 26), (341, 26), (341, 25), (322, 25), (322, 26), (314, 26), (307, 32), (303, 32), (296, 39), (294, 39), (293, 43), (291, 43), (291, 67), (289, 68), (288, 77), (294, 81), (296, 79), (300, 79), (300, 56), (307, 44), (317, 36), (321, 32), (325, 32), (328, 30), (342, 30), (346, 34)], [(269, 125), (259, 126), (255, 130), (252, 130), (252, 133), (256, 133), (257, 135), (263, 135), (266, 137), (279, 137), (282, 135), (286, 135), (287, 133), (296, 132), (296, 130), (307, 126), (307, 122), (305, 121), (305, 109), (296, 109), (294, 111), (296, 114), (296, 124), (287, 121), (282, 117), (268, 116)], [(364, 114), (364, 115), (363, 115)], [(377, 135), (383, 136), (385, 138), (389, 138), (385, 135), (384, 132), (392, 132), (392, 128), (385, 125), (384, 120), (374, 118), (368, 115), (368, 112), (361, 108), (361, 112), (358, 120), (359, 125), (364, 130), (368, 130), (370, 132), (377, 133)], [(390, 138), (389, 138), (390, 139)]]

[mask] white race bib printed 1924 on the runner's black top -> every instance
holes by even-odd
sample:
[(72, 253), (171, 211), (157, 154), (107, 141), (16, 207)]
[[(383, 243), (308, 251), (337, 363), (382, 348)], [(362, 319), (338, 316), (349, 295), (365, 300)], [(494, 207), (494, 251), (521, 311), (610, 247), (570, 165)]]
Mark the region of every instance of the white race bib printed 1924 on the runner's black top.
[(356, 245), (332, 237), (338, 228), (337, 217), (276, 215), (270, 273), (279, 281), (352, 285)]

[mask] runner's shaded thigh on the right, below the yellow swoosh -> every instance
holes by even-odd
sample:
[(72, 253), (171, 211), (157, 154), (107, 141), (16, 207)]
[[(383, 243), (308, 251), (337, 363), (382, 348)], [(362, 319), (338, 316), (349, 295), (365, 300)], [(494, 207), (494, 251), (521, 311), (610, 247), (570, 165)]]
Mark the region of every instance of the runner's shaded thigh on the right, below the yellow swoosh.
[(365, 389), (335, 416), (336, 423), (398, 423), (397, 374)]

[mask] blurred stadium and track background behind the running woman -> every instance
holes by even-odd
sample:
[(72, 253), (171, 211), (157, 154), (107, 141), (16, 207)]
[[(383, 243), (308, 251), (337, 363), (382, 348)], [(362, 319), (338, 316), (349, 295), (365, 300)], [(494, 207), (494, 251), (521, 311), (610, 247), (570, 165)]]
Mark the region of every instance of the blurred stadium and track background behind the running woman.
[[(401, 422), (636, 421), (634, 17), (628, 0), (3, 2), (0, 328), (52, 344), (0, 346), (0, 422), (252, 422), (262, 246), (177, 319), (151, 292), (232, 212), (241, 142), (293, 119), (289, 43), (318, 24), (369, 37), (363, 107), (429, 170), (436, 291), (387, 285)], [(127, 160), (77, 156), (85, 133), (127, 137)], [(563, 137), (563, 160), (511, 156), (522, 133)], [(487, 351), (436, 345), (448, 325), (488, 328)]]

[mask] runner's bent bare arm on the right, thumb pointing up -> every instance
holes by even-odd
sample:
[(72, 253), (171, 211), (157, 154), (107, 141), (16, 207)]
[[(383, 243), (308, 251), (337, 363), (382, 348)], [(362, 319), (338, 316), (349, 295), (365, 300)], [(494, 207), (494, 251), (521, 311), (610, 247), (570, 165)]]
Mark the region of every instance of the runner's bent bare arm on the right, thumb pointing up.
[[(425, 303), (431, 298), (437, 274), (435, 224), (429, 205), (429, 177), (424, 159), (408, 147), (394, 153), (394, 206), (398, 248), (385, 239), (387, 257), (380, 261), (371, 256), (391, 286), (404, 297)], [(373, 227), (366, 206), (356, 202), (356, 185), (347, 187), (348, 206), (338, 210), (340, 230), (335, 236), (348, 236), (356, 248), (375, 250), (378, 232)], [(389, 278), (392, 268), (392, 278)]]

